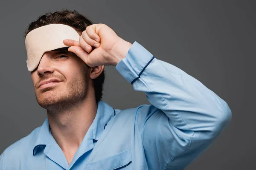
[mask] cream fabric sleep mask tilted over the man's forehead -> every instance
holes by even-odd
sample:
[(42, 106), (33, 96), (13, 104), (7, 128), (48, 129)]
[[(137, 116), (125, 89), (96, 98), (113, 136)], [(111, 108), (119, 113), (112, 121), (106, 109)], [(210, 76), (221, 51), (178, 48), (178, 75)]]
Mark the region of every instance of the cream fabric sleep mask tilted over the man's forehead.
[(74, 28), (64, 24), (49, 24), (33, 29), (26, 35), (25, 46), (27, 51), (27, 67), (29, 71), (35, 70), (47, 51), (69, 47), (63, 40), (79, 41), (80, 35)]

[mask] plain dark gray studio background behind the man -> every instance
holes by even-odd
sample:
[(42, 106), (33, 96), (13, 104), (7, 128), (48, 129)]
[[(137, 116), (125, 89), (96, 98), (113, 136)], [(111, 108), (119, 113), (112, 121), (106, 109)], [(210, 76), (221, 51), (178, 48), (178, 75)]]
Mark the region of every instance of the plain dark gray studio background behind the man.
[[(139, 42), (157, 59), (195, 77), (228, 103), (233, 113), (230, 125), (186, 170), (256, 169), (254, 2), (1, 1), (0, 153), (41, 126), (46, 118), (27, 71), (23, 32), (45, 12), (67, 8), (86, 15), (93, 23), (107, 24), (124, 40)], [(247, 66), (245, 58), (250, 59)], [(113, 66), (105, 70), (105, 102), (116, 109), (149, 104), (145, 94), (134, 91)]]

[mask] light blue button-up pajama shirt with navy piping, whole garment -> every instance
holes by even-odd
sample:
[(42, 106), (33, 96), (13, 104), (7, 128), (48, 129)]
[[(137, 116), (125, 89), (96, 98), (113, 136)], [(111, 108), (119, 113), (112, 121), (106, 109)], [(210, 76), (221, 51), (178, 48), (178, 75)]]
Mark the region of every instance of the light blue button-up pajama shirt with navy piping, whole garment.
[(227, 102), (138, 42), (116, 70), (151, 105), (114, 109), (103, 100), (70, 165), (48, 119), (0, 156), (0, 170), (182, 170), (229, 125)]

